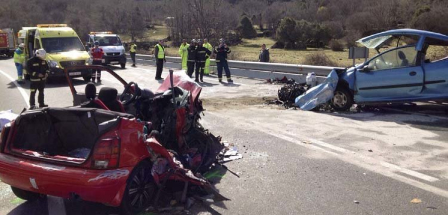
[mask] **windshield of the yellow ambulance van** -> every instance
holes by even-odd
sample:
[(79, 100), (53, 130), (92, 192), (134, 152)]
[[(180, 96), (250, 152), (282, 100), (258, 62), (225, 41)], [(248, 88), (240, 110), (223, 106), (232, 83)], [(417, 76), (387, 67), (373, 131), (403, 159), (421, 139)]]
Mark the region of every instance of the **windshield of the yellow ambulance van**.
[(42, 47), (47, 53), (85, 51), (78, 37), (42, 38)]

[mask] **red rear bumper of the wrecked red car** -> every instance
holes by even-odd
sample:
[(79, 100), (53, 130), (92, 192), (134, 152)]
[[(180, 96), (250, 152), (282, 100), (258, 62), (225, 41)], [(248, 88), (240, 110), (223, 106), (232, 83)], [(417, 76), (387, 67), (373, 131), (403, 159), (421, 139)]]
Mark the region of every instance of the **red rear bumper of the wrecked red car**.
[(0, 180), (13, 187), (62, 198), (119, 206), (132, 167), (90, 170), (0, 153)]

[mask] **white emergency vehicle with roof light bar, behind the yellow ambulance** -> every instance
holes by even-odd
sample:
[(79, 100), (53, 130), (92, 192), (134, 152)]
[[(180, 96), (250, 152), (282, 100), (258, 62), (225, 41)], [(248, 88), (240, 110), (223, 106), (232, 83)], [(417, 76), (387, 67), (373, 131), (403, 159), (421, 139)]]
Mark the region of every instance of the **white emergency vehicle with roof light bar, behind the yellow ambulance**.
[(90, 32), (86, 46), (92, 48), (95, 41), (100, 43), (100, 48), (104, 51), (104, 65), (119, 64), (122, 69), (126, 67), (126, 51), (117, 34), (112, 34), (111, 31)]

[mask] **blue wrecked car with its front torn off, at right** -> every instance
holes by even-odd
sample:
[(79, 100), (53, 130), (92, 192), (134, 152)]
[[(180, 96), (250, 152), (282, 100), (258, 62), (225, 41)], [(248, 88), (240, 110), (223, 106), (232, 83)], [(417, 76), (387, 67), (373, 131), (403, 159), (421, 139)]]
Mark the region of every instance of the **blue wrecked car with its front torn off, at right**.
[[(367, 36), (357, 42), (375, 49), (378, 54), (359, 65), (336, 70), (339, 79), (331, 101), (336, 110), (348, 110), (355, 103), (448, 99), (448, 56), (440, 57), (448, 50), (447, 35), (398, 29)], [(433, 57), (437, 55), (438, 58)]]

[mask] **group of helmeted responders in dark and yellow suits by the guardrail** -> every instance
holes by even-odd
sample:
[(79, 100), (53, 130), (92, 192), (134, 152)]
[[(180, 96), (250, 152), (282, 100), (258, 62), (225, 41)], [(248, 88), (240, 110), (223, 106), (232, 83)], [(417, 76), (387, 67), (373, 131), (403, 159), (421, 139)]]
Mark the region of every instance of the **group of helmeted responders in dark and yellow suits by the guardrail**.
[(204, 82), (204, 75), (210, 74), (210, 57), (212, 53), (216, 54), (216, 64), (218, 69), (218, 80), (223, 81), (223, 69), (228, 83), (233, 83), (230, 76), (230, 70), (227, 64), (227, 54), (230, 49), (225, 44), (224, 39), (220, 39), (220, 45), (213, 48), (208, 39), (192, 39), (187, 44), (185, 39), (179, 47), (179, 55), (182, 58), (182, 69), (187, 70), (188, 76), (192, 78), (195, 72), (195, 81)]

